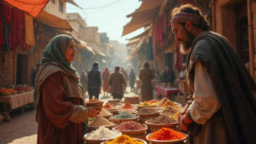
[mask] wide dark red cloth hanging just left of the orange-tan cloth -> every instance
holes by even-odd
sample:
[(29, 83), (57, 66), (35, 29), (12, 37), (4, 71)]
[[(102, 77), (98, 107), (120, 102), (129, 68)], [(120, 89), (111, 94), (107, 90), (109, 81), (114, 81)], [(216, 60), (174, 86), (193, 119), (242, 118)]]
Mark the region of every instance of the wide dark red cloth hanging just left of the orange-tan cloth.
[(18, 9), (11, 11), (11, 33), (10, 33), (10, 48), (14, 50), (18, 45), (23, 48), (24, 40), (24, 12)]

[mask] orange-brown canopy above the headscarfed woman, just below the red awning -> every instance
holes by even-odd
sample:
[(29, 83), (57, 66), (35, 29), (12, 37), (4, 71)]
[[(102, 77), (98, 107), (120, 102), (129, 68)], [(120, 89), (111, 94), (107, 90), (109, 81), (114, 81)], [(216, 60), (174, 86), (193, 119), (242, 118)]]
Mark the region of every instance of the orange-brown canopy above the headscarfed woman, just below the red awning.
[(50, 14), (46, 11), (42, 11), (40, 15), (34, 19), (53, 28), (60, 28), (67, 31), (73, 30), (68, 21), (62, 18), (58, 18), (57, 16), (54, 16), (53, 14)]

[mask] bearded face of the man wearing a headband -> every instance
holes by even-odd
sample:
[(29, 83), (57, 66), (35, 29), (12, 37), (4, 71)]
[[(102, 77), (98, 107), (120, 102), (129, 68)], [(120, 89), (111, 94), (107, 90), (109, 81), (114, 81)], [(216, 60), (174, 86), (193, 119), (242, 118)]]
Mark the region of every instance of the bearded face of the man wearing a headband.
[(175, 40), (181, 43), (181, 53), (187, 54), (191, 48), (193, 42), (193, 34), (189, 32), (185, 26), (180, 23), (171, 23), (171, 27), (175, 34)]

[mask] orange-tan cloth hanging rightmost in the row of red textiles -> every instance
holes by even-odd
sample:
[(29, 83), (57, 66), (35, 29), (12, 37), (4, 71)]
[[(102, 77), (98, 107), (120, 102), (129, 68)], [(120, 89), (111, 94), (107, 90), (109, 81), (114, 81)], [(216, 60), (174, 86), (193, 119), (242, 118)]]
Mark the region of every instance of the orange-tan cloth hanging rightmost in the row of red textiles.
[(33, 18), (25, 13), (25, 41), (26, 45), (35, 45)]

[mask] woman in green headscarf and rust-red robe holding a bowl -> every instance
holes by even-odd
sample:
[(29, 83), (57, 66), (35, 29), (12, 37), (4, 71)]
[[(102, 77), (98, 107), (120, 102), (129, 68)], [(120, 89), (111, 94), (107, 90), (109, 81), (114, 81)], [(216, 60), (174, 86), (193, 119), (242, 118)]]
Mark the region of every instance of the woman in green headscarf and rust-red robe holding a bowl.
[(43, 50), (34, 93), (37, 143), (82, 143), (87, 117), (100, 113), (95, 106), (84, 106), (80, 76), (70, 63), (76, 52), (68, 35), (55, 36)]

